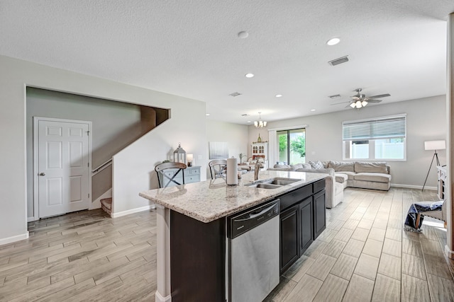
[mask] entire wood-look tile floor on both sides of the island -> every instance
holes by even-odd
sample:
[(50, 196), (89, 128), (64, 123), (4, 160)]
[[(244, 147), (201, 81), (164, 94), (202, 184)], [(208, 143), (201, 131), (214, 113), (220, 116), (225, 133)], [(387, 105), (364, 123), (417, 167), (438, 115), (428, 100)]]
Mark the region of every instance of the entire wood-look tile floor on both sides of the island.
[[(422, 200), (435, 192), (345, 190), (265, 301), (454, 301), (443, 223), (402, 231), (409, 205)], [(0, 245), (0, 301), (155, 301), (155, 211), (80, 211), (28, 229), (28, 240)]]

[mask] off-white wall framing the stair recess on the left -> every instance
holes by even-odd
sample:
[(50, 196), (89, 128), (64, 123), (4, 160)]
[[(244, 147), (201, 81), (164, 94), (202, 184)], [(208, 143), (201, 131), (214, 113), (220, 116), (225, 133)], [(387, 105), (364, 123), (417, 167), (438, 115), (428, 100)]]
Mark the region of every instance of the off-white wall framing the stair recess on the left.
[[(128, 211), (146, 199), (139, 199), (138, 192), (151, 185), (140, 182), (128, 189), (122, 175), (143, 175), (144, 170), (153, 171), (153, 164), (165, 156), (162, 149), (175, 148), (178, 141), (187, 142), (194, 154), (206, 158), (205, 105), (202, 102), (176, 95), (150, 91), (144, 88), (95, 78), (71, 71), (55, 69), (18, 59), (0, 56), (0, 244), (20, 240), (28, 236), (26, 210), (26, 86), (45, 88), (80, 95), (121, 100), (127, 103), (171, 108), (171, 118), (155, 129), (156, 134), (144, 136), (138, 146), (125, 150), (134, 157), (131, 165), (123, 163), (124, 155), (115, 159), (114, 182), (118, 187), (114, 197), (119, 209)], [(194, 122), (201, 120), (203, 122)], [(122, 151), (122, 152), (123, 152)], [(205, 168), (205, 165), (204, 167)], [(149, 180), (150, 178), (148, 178)], [(136, 196), (133, 200), (127, 198)], [(124, 199), (123, 199), (124, 198)], [(139, 202), (140, 200), (140, 202)]]

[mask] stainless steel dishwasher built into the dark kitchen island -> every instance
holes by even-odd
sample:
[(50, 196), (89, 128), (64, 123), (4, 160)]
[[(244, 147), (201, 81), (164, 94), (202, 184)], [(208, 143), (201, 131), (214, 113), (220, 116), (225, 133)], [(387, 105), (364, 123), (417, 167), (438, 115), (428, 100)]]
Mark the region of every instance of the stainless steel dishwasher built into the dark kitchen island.
[(262, 301), (279, 284), (279, 199), (231, 216), (228, 301)]

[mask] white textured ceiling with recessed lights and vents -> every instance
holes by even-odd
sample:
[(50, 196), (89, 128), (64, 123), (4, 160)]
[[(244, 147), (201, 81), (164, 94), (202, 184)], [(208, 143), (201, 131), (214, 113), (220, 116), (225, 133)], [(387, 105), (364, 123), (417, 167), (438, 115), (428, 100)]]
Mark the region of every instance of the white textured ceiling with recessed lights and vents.
[(331, 104), (355, 88), (391, 94), (380, 104), (444, 94), (452, 12), (452, 0), (0, 0), (0, 54), (202, 100), (209, 118), (247, 124), (351, 110)]

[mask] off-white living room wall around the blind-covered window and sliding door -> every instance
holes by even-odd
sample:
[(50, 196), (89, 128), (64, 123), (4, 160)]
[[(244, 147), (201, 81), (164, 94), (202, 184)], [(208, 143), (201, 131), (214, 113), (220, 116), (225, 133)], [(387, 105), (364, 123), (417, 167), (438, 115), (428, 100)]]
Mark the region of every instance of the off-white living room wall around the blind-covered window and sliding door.
[[(306, 161), (342, 161), (342, 122), (406, 113), (406, 161), (387, 161), (391, 166), (392, 184), (422, 187), (433, 151), (424, 150), (424, 141), (446, 139), (445, 95), (404, 102), (375, 105), (360, 110), (343, 110), (323, 115), (299, 117), (292, 120), (268, 122), (267, 129), (307, 124)], [(257, 140), (257, 129), (249, 126), (249, 141)], [(267, 132), (260, 132), (267, 140)], [(438, 152), (442, 165), (445, 150)], [(270, 163), (272, 166), (272, 163)], [(436, 187), (436, 168), (432, 167), (426, 187)]]

